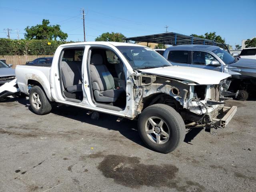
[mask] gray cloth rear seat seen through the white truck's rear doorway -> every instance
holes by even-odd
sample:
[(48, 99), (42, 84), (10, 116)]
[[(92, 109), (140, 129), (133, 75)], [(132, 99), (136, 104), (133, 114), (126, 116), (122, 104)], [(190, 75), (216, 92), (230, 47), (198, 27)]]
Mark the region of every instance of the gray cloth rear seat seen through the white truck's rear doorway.
[(64, 88), (70, 92), (82, 91), (82, 62), (62, 61), (61, 74)]

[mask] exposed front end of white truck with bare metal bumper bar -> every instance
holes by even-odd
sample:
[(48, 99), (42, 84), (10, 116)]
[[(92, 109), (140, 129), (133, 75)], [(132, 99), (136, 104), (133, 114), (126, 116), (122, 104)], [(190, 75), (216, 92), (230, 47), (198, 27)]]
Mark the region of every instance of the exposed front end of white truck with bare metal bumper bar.
[(230, 81), (222, 80), (218, 85), (191, 86), (188, 108), (181, 112), (191, 122), (187, 126), (225, 128), (237, 110), (236, 106), (224, 106), (224, 101), (230, 99), (226, 96), (235, 95), (227, 91), (229, 85)]

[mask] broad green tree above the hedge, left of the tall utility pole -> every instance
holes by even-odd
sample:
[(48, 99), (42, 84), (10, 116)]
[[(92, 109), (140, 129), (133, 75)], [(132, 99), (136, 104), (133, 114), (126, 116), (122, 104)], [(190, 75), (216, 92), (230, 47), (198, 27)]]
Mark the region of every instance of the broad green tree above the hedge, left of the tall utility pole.
[(60, 30), (60, 25), (49, 25), (50, 21), (43, 19), (42, 24), (36, 26), (27, 26), (25, 28), (26, 33), (24, 34), (27, 40), (30, 39), (47, 39), (47, 40), (66, 40), (68, 34)]

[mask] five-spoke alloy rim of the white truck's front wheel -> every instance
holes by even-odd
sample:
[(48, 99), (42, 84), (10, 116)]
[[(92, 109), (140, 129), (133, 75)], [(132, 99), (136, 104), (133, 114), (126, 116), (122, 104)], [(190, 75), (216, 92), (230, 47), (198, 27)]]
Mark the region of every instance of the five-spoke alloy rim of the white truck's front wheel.
[(156, 116), (146, 120), (145, 131), (148, 138), (156, 144), (164, 144), (170, 138), (170, 128), (162, 118)]

